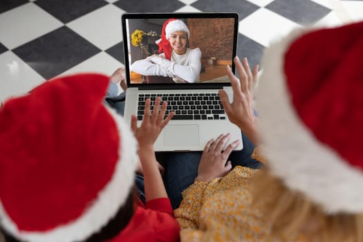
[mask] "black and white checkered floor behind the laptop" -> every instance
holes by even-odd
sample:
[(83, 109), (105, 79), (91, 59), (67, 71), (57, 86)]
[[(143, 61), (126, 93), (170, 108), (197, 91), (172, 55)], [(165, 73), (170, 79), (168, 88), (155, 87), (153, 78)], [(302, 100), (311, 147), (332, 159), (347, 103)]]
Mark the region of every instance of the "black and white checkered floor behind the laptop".
[(292, 28), (363, 20), (363, 1), (1, 0), (0, 101), (57, 75), (113, 73), (124, 62), (124, 12), (238, 12), (238, 55), (257, 64)]

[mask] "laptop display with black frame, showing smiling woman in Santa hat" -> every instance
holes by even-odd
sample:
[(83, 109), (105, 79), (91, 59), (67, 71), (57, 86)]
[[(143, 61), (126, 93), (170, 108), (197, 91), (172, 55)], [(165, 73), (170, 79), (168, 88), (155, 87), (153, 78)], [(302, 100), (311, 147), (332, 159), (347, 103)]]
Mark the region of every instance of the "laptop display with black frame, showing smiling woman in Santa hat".
[(128, 85), (230, 83), (238, 20), (236, 13), (122, 15)]

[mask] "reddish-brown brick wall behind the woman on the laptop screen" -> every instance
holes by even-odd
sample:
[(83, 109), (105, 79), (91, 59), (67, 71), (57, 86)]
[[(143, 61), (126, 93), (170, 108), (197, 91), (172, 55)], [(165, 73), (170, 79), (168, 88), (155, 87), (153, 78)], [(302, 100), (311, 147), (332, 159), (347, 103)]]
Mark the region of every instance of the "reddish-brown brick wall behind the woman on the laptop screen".
[(202, 59), (231, 59), (233, 23), (234, 19), (188, 19), (189, 47), (200, 48)]

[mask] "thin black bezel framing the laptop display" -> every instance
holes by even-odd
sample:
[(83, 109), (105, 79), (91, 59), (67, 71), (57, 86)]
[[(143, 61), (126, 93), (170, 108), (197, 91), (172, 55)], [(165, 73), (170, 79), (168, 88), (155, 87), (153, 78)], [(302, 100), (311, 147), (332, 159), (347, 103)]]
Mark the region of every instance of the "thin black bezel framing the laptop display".
[[(233, 33), (233, 48), (232, 48), (232, 59), (236, 56), (237, 49), (237, 37), (239, 32), (239, 15), (236, 12), (165, 12), (165, 13), (129, 13), (126, 12), (122, 15), (122, 37), (124, 44), (124, 66), (126, 69), (127, 86), (138, 87), (139, 89), (176, 89), (176, 86), (182, 87), (183, 89), (220, 89), (223, 86), (230, 86), (230, 82), (205, 82), (205, 83), (131, 83), (130, 77), (130, 64), (129, 64), (129, 53), (128, 53), (128, 41), (129, 36), (127, 33), (127, 19), (190, 19), (190, 18), (230, 18), (234, 19), (234, 33)], [(235, 73), (235, 66), (232, 62), (232, 72)]]

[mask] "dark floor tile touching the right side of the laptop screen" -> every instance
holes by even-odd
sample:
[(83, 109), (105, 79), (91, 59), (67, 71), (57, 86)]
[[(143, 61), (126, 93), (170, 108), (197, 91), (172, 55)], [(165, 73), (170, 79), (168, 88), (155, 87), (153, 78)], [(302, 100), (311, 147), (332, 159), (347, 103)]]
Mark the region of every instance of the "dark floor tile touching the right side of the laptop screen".
[(245, 35), (239, 34), (237, 55), (239, 59), (247, 57), (250, 68), (254, 68), (255, 65), (261, 64), (261, 58), (263, 55), (264, 46), (246, 37)]

